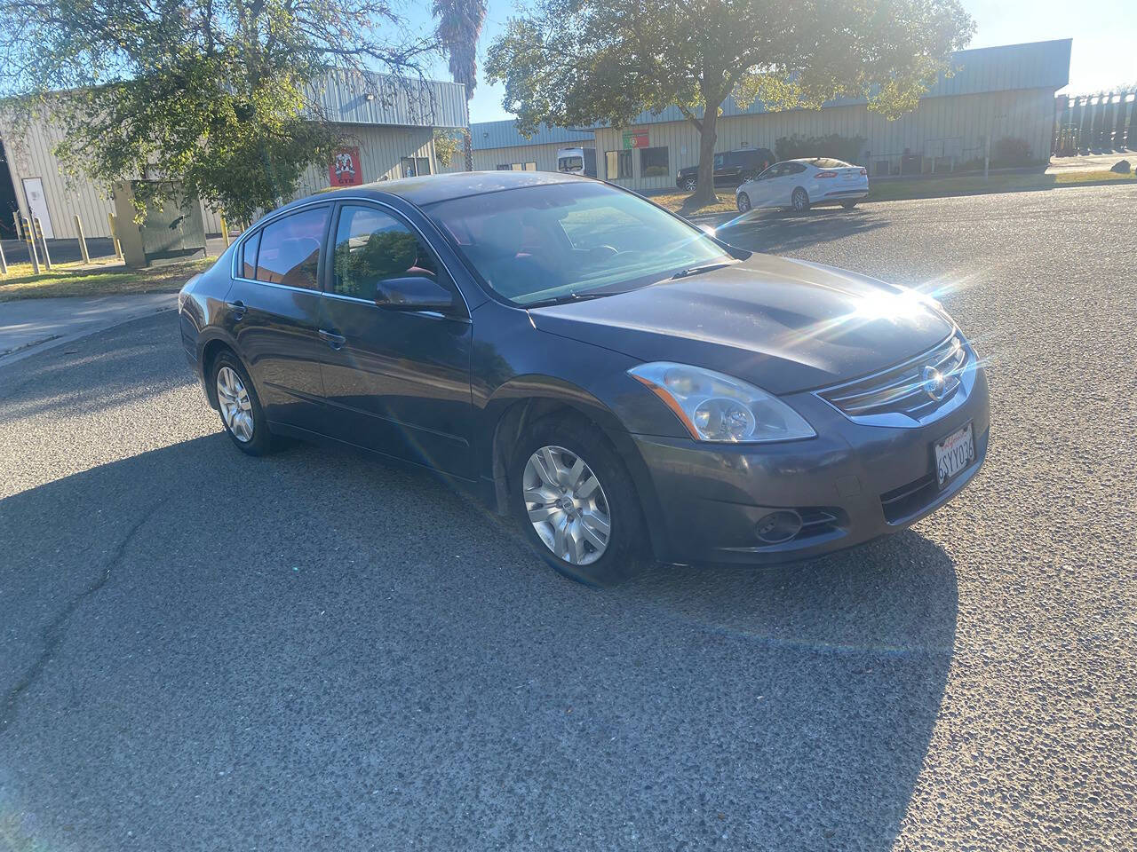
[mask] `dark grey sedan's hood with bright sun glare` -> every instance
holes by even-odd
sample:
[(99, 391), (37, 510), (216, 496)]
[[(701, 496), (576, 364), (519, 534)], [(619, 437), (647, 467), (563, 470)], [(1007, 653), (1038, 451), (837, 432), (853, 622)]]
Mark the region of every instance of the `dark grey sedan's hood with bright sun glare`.
[(874, 373), (954, 328), (914, 291), (769, 254), (530, 316), (549, 334), (719, 370), (777, 394)]

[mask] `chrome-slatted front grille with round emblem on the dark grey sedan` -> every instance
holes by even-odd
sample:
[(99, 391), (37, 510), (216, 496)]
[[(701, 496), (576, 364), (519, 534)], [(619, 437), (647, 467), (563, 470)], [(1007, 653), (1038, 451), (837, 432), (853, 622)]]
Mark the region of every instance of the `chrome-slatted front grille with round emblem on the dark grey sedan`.
[[(849, 417), (903, 414), (914, 419), (935, 411), (960, 390), (960, 378), (968, 362), (968, 350), (958, 335), (953, 335), (935, 349), (904, 364), (837, 387), (821, 391), (821, 398)], [(943, 385), (936, 382), (938, 370)]]

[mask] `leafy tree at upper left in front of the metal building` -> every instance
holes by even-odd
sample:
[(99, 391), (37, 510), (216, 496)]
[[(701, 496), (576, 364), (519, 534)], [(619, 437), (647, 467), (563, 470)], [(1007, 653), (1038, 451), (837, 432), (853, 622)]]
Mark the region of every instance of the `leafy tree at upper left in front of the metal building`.
[(72, 170), (163, 178), (143, 204), (177, 182), (248, 220), (343, 141), (318, 106), (332, 69), (391, 75), (380, 98), (416, 89), (437, 36), (409, 35), (392, 3), (0, 0), (0, 95), (9, 122), (66, 128), (57, 154)]

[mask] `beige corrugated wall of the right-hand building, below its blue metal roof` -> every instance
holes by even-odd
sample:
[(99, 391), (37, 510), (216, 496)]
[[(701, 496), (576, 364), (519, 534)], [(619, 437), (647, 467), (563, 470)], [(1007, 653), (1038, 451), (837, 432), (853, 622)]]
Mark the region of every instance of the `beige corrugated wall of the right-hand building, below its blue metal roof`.
[[(931, 157), (943, 156), (939, 143), (960, 151), (957, 159), (969, 160), (982, 156), (980, 136), (993, 140), (1020, 136), (1030, 145), (1032, 157), (1049, 157), (1051, 134), (1054, 122), (1054, 92), (1037, 89), (1015, 92), (989, 92), (954, 98), (930, 98), (920, 102), (919, 109), (895, 122), (862, 105), (827, 107), (820, 110), (790, 110), (755, 116), (722, 117), (716, 127), (715, 151), (742, 148), (773, 150), (780, 136), (800, 134), (824, 136), (863, 136), (865, 162), (878, 159), (896, 161), (908, 151)], [(699, 135), (689, 122), (639, 125), (647, 132), (652, 148), (667, 148), (669, 174), (659, 177), (640, 175), (640, 157), (632, 151), (631, 179), (619, 183), (637, 190), (674, 187), (675, 173), (684, 166), (698, 165)], [(619, 130), (596, 131), (596, 153), (600, 176), (605, 176), (605, 152), (622, 149)], [(496, 157), (509, 157), (514, 149), (499, 149)], [(616, 178), (608, 177), (615, 181)]]

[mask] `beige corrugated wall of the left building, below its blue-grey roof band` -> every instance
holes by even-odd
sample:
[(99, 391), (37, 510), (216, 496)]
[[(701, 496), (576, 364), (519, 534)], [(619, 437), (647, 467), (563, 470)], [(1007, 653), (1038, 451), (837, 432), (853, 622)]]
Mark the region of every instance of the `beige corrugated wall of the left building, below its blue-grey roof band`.
[[(352, 125), (354, 139), (350, 144), (359, 145), (359, 159), (365, 182), (383, 177), (401, 177), (402, 157), (428, 157), (431, 170), (437, 170), (434, 160), (433, 130), (430, 127), (387, 127), (375, 125)], [(109, 236), (107, 214), (114, 212), (109, 193), (103, 193), (94, 183), (80, 178), (68, 181), (59, 167), (59, 160), (51, 150), (61, 140), (58, 127), (40, 122), (32, 123), (24, 137), (15, 140), (9, 131), (5, 133), (5, 150), (11, 168), (13, 183), (20, 214), (31, 216), (24, 195), (23, 178), (39, 177), (43, 181), (43, 194), (51, 217), (51, 227), (57, 240), (74, 240), (74, 214), (83, 219), (83, 232), (88, 236)], [(307, 195), (329, 185), (326, 168), (309, 168), (300, 178), (300, 193)], [(206, 233), (221, 232), (219, 216), (202, 206)]]

